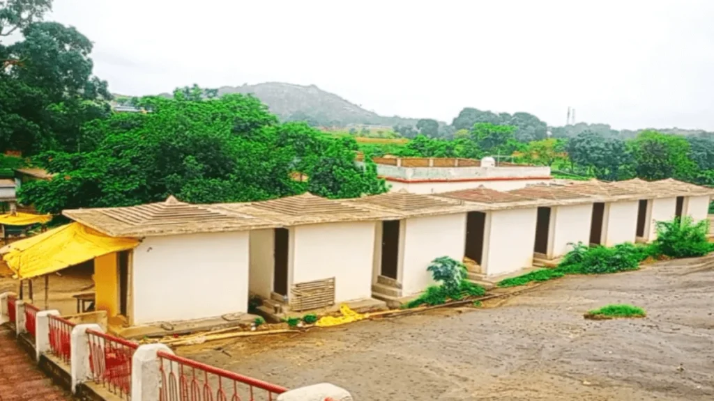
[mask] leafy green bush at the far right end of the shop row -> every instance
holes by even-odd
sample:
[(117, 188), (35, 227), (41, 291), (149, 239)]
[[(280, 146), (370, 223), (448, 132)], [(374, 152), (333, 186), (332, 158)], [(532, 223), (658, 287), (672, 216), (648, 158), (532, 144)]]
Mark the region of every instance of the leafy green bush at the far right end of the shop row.
[(653, 243), (655, 252), (670, 258), (692, 258), (703, 256), (714, 250), (709, 243), (709, 222), (692, 218), (675, 218), (672, 221), (658, 221), (657, 239)]

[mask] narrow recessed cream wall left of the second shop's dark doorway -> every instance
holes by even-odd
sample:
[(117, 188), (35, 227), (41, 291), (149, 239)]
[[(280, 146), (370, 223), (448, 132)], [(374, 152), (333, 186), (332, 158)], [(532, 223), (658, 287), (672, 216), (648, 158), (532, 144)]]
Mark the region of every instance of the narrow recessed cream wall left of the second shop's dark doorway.
[(266, 230), (252, 230), (251, 236), (251, 268), (250, 286), (251, 293), (260, 295), (263, 298), (270, 298), (273, 292), (273, 274), (275, 257), (275, 231), (272, 228)]

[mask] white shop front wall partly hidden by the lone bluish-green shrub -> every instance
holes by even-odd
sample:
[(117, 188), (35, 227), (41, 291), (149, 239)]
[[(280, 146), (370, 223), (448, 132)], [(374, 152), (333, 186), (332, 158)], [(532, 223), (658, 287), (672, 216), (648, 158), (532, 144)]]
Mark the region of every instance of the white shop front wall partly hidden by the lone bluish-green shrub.
[(461, 262), (466, 245), (466, 213), (403, 220), (403, 261), (399, 280), (408, 296), (434, 285), (426, 268), (432, 260), (448, 256)]

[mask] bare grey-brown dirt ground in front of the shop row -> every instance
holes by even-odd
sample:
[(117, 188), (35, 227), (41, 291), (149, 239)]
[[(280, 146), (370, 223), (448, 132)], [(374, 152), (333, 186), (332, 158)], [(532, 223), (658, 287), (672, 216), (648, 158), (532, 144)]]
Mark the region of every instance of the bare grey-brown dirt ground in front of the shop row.
[[(583, 319), (608, 303), (648, 316)], [(356, 400), (712, 400), (713, 313), (714, 261), (679, 260), (555, 280), (493, 308), (177, 352), (286, 387), (332, 382)]]

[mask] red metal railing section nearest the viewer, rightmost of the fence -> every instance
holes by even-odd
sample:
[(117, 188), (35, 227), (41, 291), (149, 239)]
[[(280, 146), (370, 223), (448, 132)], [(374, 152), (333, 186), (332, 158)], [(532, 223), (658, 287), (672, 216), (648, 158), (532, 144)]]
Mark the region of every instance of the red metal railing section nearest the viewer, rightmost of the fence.
[(159, 351), (156, 355), (161, 370), (160, 401), (272, 401), (288, 391), (168, 352)]

